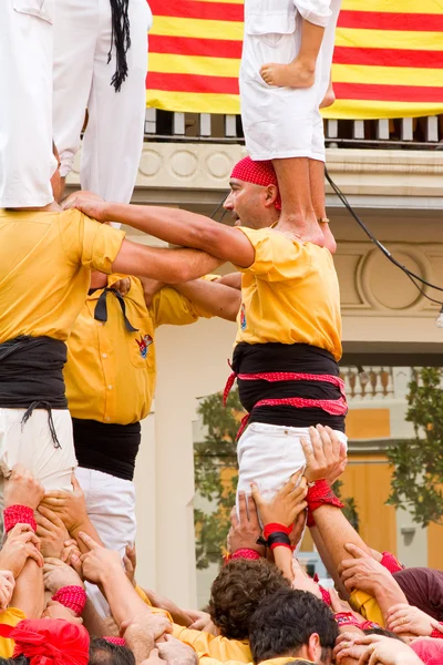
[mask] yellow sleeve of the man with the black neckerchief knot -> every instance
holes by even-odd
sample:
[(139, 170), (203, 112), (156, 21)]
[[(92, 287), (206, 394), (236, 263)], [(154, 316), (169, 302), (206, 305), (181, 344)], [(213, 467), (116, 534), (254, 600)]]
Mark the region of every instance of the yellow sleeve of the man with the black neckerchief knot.
[(154, 328), (158, 326), (187, 326), (200, 317), (210, 318), (213, 315), (197, 307), (174, 288), (162, 288), (151, 303), (150, 314)]

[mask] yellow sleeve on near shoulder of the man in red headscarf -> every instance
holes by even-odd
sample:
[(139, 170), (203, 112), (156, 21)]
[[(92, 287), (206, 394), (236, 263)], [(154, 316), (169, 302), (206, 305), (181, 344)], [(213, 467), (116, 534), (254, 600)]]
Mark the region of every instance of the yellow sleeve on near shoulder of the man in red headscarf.
[(301, 279), (311, 266), (311, 257), (303, 245), (274, 228), (238, 227), (255, 249), (255, 259), (248, 268), (237, 266), (240, 273), (253, 273), (268, 282)]

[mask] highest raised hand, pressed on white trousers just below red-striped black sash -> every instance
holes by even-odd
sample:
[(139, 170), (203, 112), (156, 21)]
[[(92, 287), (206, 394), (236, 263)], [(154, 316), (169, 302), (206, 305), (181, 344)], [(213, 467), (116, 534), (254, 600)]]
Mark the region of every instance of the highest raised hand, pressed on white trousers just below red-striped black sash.
[(334, 481), (344, 469), (347, 451), (337, 433), (330, 427), (318, 424), (309, 428), (310, 442), (302, 438), (306, 457), (305, 477), (308, 482), (316, 480)]

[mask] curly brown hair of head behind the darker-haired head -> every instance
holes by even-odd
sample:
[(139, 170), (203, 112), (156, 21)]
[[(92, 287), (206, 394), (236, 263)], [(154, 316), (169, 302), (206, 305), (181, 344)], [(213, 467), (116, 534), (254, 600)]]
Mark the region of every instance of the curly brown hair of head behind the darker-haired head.
[(210, 589), (209, 614), (224, 637), (246, 640), (259, 603), (288, 580), (266, 559), (238, 559), (225, 565)]

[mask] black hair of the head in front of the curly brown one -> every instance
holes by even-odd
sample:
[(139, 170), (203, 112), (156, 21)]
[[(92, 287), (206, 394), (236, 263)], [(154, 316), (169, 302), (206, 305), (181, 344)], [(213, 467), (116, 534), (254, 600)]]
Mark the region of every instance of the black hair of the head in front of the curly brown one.
[(312, 593), (280, 589), (260, 603), (250, 620), (249, 644), (254, 662), (296, 657), (313, 633), (320, 638), (326, 658), (339, 634), (332, 612)]

